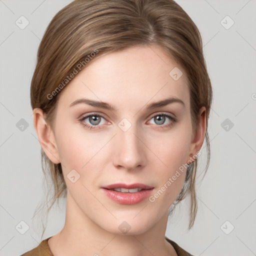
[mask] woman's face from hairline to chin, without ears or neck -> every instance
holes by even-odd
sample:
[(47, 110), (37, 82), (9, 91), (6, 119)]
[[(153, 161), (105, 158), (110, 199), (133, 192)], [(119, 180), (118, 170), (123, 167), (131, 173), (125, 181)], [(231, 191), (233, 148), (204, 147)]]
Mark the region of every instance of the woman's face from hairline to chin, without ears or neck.
[[(152, 104), (166, 99), (172, 100)], [(76, 74), (55, 109), (52, 153), (61, 162), (70, 212), (130, 234), (166, 217), (185, 177), (185, 169), (177, 170), (196, 152), (189, 105), (185, 72), (160, 46), (101, 55)], [(127, 194), (104, 188), (116, 183), (152, 189)]]

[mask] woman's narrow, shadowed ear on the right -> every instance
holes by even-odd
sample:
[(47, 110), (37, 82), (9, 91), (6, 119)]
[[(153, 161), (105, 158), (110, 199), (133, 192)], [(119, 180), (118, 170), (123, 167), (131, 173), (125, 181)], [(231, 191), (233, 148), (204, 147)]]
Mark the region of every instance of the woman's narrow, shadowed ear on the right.
[(192, 137), (191, 144), (190, 144), (190, 154), (187, 158), (187, 161), (190, 163), (194, 161), (196, 152), (198, 152), (202, 146), (204, 136), (206, 131), (206, 109), (202, 106), (198, 113), (197, 118), (197, 126), (195, 134)]

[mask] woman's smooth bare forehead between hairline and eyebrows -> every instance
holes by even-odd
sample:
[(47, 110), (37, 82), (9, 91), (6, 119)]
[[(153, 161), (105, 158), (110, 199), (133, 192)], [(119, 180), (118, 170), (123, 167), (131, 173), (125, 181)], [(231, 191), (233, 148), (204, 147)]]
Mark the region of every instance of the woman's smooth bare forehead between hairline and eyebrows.
[(185, 70), (158, 45), (136, 46), (92, 58), (61, 92), (59, 104), (86, 97), (122, 108), (169, 96), (189, 102)]

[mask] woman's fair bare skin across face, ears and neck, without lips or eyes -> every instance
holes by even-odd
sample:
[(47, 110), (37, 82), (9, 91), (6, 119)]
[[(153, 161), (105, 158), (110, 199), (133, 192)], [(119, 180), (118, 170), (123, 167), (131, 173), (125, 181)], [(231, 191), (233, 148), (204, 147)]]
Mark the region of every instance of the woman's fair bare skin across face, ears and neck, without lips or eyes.
[[(178, 80), (169, 75), (173, 67), (183, 72)], [(180, 192), (185, 171), (154, 202), (146, 198), (119, 204), (101, 187), (139, 182), (153, 186), (154, 194), (201, 148), (205, 108), (193, 134), (185, 70), (158, 45), (130, 47), (92, 60), (60, 93), (53, 127), (41, 109), (33, 111), (40, 144), (52, 162), (61, 162), (67, 185), (64, 227), (48, 240), (53, 255), (177, 255), (164, 235), (168, 208)], [(151, 110), (145, 106), (170, 96), (184, 105), (172, 102)], [(117, 110), (83, 103), (69, 106), (82, 97), (111, 103)], [(89, 129), (79, 118), (92, 112), (103, 118)], [(157, 114), (176, 121), (165, 116), (161, 124), (154, 118)], [(131, 124), (127, 131), (118, 126), (123, 118)], [(83, 123), (93, 125), (91, 121)], [(80, 175), (74, 183), (67, 178), (72, 169)], [(126, 234), (118, 228), (123, 221), (131, 227)]]

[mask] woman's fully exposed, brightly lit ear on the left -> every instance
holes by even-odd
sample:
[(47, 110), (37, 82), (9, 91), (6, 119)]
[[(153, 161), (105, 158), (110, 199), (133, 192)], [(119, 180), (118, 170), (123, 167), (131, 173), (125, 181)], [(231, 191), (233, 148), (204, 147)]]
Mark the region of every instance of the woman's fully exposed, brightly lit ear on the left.
[(59, 163), (54, 133), (50, 125), (46, 123), (41, 108), (36, 107), (33, 109), (33, 124), (43, 151), (53, 163)]

